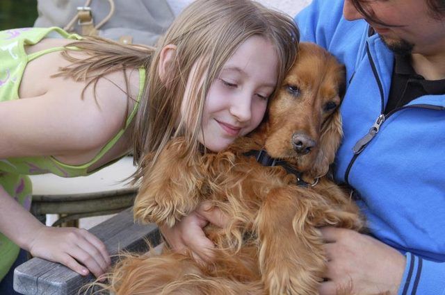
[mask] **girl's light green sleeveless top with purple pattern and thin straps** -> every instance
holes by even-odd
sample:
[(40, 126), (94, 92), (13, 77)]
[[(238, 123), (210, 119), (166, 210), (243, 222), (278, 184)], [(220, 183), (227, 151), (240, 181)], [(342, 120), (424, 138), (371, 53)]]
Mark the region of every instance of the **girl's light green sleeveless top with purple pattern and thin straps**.
[[(60, 51), (63, 47), (55, 47), (44, 51), (26, 55), (25, 45), (36, 44), (44, 37), (56, 34), (72, 40), (81, 37), (69, 34), (60, 28), (19, 28), (15, 30), (0, 31), (0, 103), (19, 99), (18, 89), (26, 64), (44, 54)], [(52, 173), (62, 177), (86, 176), (94, 171), (88, 171), (97, 160), (119, 140), (127, 129), (138, 109), (138, 102), (143, 93), (145, 84), (145, 70), (139, 69), (139, 94), (137, 103), (129, 115), (127, 122), (113, 139), (90, 162), (83, 165), (66, 165), (51, 156), (8, 158), (0, 159), (0, 185), (6, 192), (29, 210), (31, 207), (32, 187), (28, 176), (32, 174)], [(63, 99), (63, 98), (61, 98)], [(80, 97), (79, 97), (80, 99)], [(108, 163), (109, 165), (111, 163)], [(95, 170), (97, 171), (97, 169)], [(19, 221), (17, 221), (19, 226)], [(0, 280), (6, 275), (8, 269), (17, 258), (18, 246), (10, 242), (0, 233)]]

